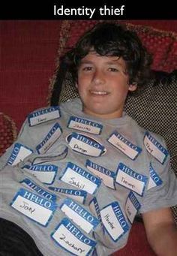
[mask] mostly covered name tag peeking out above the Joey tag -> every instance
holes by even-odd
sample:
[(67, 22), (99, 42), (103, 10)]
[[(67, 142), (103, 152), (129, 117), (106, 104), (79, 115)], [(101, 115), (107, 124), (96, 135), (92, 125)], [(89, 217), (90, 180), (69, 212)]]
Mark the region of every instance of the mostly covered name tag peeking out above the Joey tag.
[(27, 188), (31, 188), (32, 190), (34, 190), (34, 192), (37, 192), (37, 194), (40, 194), (42, 197), (45, 197), (46, 200), (52, 200), (53, 202), (55, 202), (55, 194), (51, 194), (43, 188), (40, 188), (40, 186), (36, 185), (30, 179), (23, 179), (23, 181), (21, 181), (20, 183), (26, 185)]

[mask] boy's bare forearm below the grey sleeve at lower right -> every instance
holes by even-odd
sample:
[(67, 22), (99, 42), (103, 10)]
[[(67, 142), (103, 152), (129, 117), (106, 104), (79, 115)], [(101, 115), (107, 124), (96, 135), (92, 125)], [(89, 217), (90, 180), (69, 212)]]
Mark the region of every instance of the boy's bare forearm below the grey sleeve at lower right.
[(151, 248), (158, 256), (176, 256), (177, 227), (170, 208), (142, 214), (145, 232)]

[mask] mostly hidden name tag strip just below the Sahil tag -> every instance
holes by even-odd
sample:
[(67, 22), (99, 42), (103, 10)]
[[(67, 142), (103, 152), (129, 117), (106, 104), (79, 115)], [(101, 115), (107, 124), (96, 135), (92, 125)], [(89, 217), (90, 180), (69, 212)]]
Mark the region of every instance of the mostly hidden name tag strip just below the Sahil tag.
[(48, 187), (50, 190), (65, 194), (66, 197), (70, 197), (74, 200), (77, 200), (79, 203), (85, 203), (87, 192), (84, 190), (79, 189), (69, 189), (69, 188), (55, 188), (55, 187)]

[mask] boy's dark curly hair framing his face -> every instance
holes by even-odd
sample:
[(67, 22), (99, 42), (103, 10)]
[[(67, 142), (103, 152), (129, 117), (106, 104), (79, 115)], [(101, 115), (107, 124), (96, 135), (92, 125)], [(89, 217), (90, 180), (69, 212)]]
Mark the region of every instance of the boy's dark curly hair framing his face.
[[(151, 74), (151, 54), (142, 45), (136, 32), (128, 30), (122, 24), (113, 22), (98, 23), (86, 32), (77, 41), (75, 47), (62, 56), (61, 65), (57, 72), (57, 79), (62, 82), (62, 77), (67, 72), (71, 74), (72, 83), (77, 82), (80, 61), (91, 50), (101, 56), (117, 56), (124, 59), (127, 65), (129, 83), (136, 83), (140, 89)], [(53, 94), (55, 91), (55, 84)], [(136, 91), (135, 91), (136, 92)], [(130, 92), (134, 94), (134, 92)]]

